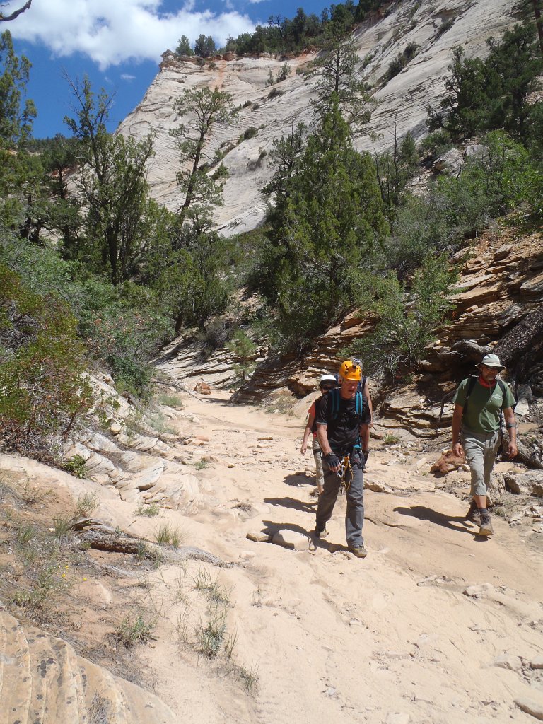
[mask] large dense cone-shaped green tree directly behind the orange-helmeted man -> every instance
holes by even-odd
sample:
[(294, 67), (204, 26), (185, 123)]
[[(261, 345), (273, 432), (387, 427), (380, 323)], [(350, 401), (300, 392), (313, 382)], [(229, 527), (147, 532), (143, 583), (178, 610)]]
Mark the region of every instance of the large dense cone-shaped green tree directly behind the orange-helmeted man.
[(301, 350), (352, 303), (358, 273), (387, 232), (368, 153), (357, 153), (337, 98), (308, 136), (286, 200), (271, 213), (262, 290), (279, 346)]

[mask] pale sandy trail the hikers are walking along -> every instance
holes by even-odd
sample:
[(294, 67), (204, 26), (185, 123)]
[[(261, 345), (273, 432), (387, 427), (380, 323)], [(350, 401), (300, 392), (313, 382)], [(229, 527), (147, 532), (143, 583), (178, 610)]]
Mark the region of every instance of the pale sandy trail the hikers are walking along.
[[(188, 397), (185, 411), (198, 418), (193, 432), (209, 438), (194, 450), (212, 458), (197, 473), (207, 505), (169, 518), (191, 544), (237, 564), (211, 574), (232, 589), (235, 657), (258, 668), (259, 686), (248, 696), (228, 667), (180, 647), (172, 631), (183, 596), (172, 602), (172, 591), (186, 593), (202, 564), (163, 567), (150, 594), (162, 615), (159, 643), (141, 655), (180, 721), (534, 721), (514, 699), (543, 704), (542, 669), (529, 665), (543, 654), (543, 566), (515, 529), (497, 518), (495, 536), (479, 539), (463, 502), (414, 466), (385, 466), (387, 454), (372, 452), (368, 479), (394, 492), (366, 490), (366, 560), (346, 552), (345, 497), (315, 550), (251, 542), (250, 530), (313, 529), (313, 481), (295, 474), (313, 466), (298, 451), (303, 422), (229, 405), (222, 393)], [(473, 597), (468, 586), (482, 587)]]

